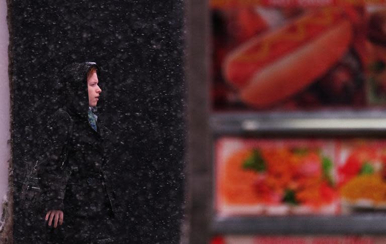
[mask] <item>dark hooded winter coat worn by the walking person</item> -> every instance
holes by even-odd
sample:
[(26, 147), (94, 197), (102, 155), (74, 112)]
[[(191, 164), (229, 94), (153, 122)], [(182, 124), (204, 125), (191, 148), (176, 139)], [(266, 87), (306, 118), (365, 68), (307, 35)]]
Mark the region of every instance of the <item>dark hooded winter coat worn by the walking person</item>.
[[(97, 131), (88, 122), (87, 72), (94, 63), (77, 63), (65, 67), (59, 74), (61, 109), (47, 124), (38, 170), (40, 186), (48, 192), (45, 210), (60, 209), (64, 215), (93, 216), (110, 208), (117, 217), (122, 214), (113, 187), (114, 139), (116, 138), (98, 118)], [(98, 69), (99, 70), (99, 69)], [(99, 74), (99, 71), (98, 71)], [(63, 168), (61, 156), (69, 136), (67, 161)], [(58, 177), (59, 176), (59, 177)]]

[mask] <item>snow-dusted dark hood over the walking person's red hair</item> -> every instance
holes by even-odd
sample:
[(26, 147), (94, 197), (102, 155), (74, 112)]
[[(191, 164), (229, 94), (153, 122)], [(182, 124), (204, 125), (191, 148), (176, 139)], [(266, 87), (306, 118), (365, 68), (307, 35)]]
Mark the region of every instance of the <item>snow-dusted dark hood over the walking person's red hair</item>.
[(96, 67), (98, 77), (100, 69), (92, 62), (73, 63), (64, 67), (58, 74), (58, 105), (72, 116), (88, 121), (87, 72)]

